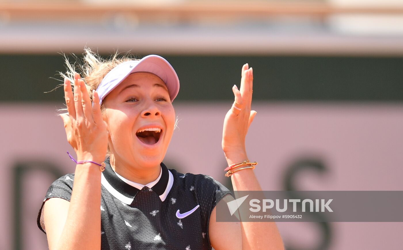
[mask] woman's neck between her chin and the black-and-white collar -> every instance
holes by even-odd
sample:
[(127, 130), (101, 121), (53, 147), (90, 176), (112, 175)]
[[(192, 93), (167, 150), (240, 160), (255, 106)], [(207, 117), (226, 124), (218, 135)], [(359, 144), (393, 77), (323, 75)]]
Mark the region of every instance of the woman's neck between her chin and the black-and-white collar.
[(141, 185), (146, 185), (155, 181), (160, 175), (160, 165), (155, 167), (142, 168), (140, 166), (134, 166), (125, 164), (120, 161), (113, 153), (110, 154), (109, 163), (113, 171), (123, 178), (136, 182)]

